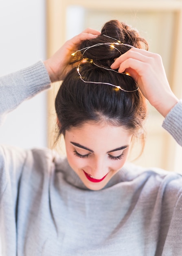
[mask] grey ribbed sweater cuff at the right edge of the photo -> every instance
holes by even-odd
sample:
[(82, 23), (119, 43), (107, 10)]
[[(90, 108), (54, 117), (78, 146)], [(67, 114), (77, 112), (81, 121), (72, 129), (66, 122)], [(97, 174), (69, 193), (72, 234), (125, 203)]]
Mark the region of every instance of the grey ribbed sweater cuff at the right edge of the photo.
[(167, 114), (162, 127), (182, 146), (182, 100)]

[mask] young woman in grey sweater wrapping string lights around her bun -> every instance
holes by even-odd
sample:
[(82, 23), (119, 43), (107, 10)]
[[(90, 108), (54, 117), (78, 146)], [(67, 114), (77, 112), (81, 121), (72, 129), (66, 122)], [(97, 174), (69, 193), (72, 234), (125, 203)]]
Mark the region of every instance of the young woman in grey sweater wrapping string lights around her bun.
[(125, 164), (145, 98), (182, 145), (182, 102), (160, 56), (142, 45), (114, 20), (69, 40), (45, 66), (0, 79), (1, 117), (64, 79), (55, 109), (67, 153), (0, 147), (3, 255), (182, 255), (181, 176)]

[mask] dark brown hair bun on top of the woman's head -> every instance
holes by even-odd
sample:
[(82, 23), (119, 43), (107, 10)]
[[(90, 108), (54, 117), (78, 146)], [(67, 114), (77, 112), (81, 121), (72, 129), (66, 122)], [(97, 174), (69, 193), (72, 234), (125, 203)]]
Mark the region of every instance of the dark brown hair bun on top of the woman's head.
[[(120, 41), (121, 44), (112, 47), (111, 43), (117, 43), (117, 41)], [(98, 65), (110, 67), (115, 58), (131, 48), (122, 43), (136, 48), (142, 48), (141, 43), (144, 43), (145, 49), (148, 49), (147, 41), (140, 38), (138, 31), (118, 20), (106, 22), (101, 30), (101, 35), (83, 41), (80, 48), (83, 58), (92, 59)], [(84, 49), (86, 47), (88, 49)]]

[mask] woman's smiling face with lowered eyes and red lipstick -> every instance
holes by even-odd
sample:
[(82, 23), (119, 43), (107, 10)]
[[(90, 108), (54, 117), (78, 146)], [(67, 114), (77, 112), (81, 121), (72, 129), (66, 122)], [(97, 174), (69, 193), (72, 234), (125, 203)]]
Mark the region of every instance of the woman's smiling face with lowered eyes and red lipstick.
[(88, 189), (102, 189), (125, 163), (131, 139), (123, 126), (85, 123), (65, 132), (68, 162)]

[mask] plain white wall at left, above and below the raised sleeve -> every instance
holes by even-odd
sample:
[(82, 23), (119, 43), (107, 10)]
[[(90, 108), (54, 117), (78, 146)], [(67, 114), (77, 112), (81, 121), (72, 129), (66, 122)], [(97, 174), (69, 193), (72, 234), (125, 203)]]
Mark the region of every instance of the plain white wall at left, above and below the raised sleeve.
[[(44, 60), (44, 0), (0, 1), (0, 76)], [(0, 128), (0, 143), (46, 146), (46, 93), (22, 103)]]

